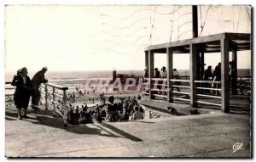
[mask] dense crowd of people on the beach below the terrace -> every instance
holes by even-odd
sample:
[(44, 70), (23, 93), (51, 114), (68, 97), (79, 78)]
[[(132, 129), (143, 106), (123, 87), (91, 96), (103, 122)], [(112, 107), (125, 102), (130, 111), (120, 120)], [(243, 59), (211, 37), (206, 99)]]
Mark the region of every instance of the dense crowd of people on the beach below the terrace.
[[(108, 98), (109, 103), (96, 104), (95, 107), (89, 108), (85, 103), (81, 107), (73, 106), (72, 103), (67, 105), (67, 122), (73, 125), (86, 124), (93, 122), (105, 121), (128, 121), (128, 120), (142, 120), (144, 118), (144, 109), (138, 103), (141, 96), (131, 98), (117, 97), (118, 102), (114, 102), (114, 97)], [(63, 113), (62, 107), (58, 107)]]

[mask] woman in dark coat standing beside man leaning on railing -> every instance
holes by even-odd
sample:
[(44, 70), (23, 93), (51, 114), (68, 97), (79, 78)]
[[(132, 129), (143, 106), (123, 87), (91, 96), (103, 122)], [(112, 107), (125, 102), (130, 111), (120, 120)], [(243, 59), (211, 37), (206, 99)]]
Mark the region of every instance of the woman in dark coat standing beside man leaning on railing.
[(24, 118), (27, 118), (26, 111), (29, 103), (29, 98), (32, 94), (33, 88), (30, 78), (27, 76), (26, 67), (20, 70), (20, 75), (15, 80), (15, 105), (18, 109), (18, 118), (22, 120), (21, 110), (23, 109)]

